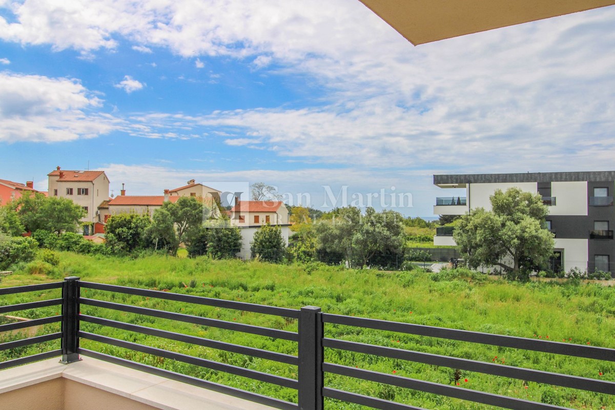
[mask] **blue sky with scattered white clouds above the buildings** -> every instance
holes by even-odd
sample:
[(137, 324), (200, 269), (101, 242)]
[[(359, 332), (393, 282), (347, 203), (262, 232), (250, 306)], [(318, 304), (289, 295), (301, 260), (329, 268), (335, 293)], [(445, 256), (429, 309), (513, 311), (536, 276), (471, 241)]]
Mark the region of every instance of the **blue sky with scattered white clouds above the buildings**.
[(434, 174), (615, 169), (614, 27), (611, 6), (415, 47), (357, 0), (0, 0), (0, 179), (433, 216), (463, 195)]

